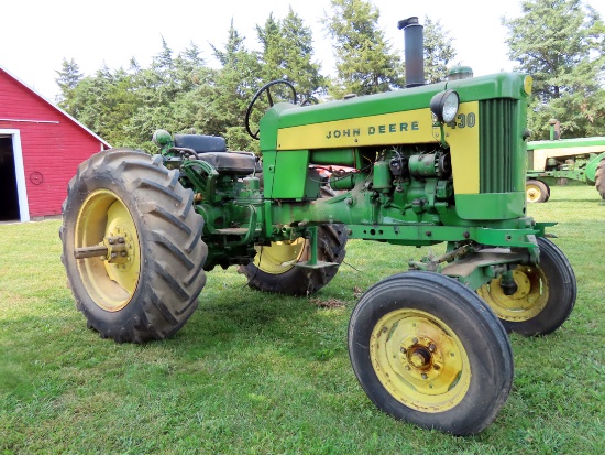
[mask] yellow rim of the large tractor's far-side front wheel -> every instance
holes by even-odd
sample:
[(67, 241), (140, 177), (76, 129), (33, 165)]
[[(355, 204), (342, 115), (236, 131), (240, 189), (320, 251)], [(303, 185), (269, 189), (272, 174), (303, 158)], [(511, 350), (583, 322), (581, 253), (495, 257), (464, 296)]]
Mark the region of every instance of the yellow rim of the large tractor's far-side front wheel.
[(506, 295), (496, 278), (477, 290), (477, 294), (504, 321), (524, 322), (537, 316), (547, 305), (549, 289), (544, 272), (539, 267), (518, 266), (513, 271), (517, 289)]

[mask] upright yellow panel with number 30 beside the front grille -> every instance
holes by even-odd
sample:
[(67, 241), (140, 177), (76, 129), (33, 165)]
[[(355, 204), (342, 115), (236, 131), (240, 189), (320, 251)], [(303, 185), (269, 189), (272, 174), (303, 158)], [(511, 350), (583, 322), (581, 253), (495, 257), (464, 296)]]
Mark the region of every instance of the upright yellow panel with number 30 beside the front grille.
[[(474, 116), (474, 122), (470, 122)], [(455, 194), (479, 194), (479, 101), (463, 102), (457, 115), (457, 126), (443, 128), (450, 145)]]

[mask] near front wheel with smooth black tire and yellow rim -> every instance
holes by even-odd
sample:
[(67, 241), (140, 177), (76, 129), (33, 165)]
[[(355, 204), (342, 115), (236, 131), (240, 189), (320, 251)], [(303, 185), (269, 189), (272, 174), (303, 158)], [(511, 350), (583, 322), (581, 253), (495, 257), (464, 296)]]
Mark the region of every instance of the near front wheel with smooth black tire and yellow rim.
[(367, 290), (351, 316), (349, 355), (381, 410), (455, 435), (490, 425), (513, 383), (502, 324), (470, 289), (431, 272), (397, 274)]

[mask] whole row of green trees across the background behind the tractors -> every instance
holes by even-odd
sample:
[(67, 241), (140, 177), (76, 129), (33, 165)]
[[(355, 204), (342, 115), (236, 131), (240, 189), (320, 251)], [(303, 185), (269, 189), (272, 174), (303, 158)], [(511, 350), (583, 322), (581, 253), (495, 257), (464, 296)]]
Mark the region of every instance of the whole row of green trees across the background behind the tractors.
[[(174, 53), (164, 39), (151, 64), (133, 57), (127, 69), (107, 66), (84, 76), (74, 59), (64, 59), (55, 79), (58, 106), (114, 147), (155, 151), (156, 129), (195, 130), (222, 136), (230, 150), (258, 151), (244, 118), (254, 94), (270, 80), (286, 79), (302, 100), (320, 102), (355, 93), (375, 94), (403, 87), (404, 64), (378, 28), (380, 11), (369, 0), (331, 0), (322, 24), (333, 42), (336, 74), (329, 80), (315, 59), (314, 36), (290, 8), (256, 25), (258, 51), (246, 47), (233, 22), (222, 45), (211, 45), (218, 65), (209, 66), (195, 43)], [(522, 0), (522, 14), (503, 18), (509, 56), (535, 79), (529, 123), (548, 134), (548, 119), (563, 132), (603, 134), (605, 130), (605, 40), (598, 14), (581, 0)], [(443, 80), (455, 58), (452, 39), (439, 21), (425, 18), (427, 83)], [(290, 97), (288, 90), (283, 98)], [(275, 99), (279, 99), (277, 90)], [(257, 127), (268, 108), (261, 99), (252, 116)]]

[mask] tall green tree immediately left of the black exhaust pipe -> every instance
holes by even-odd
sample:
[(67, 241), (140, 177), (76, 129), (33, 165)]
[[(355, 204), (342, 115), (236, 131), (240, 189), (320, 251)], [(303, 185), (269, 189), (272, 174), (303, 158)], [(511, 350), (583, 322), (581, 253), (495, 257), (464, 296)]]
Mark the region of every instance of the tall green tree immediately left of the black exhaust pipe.
[(399, 56), (378, 29), (380, 11), (370, 1), (330, 0), (332, 15), (322, 19), (336, 42), (337, 78), (329, 93), (369, 95), (404, 85)]

